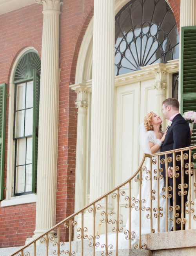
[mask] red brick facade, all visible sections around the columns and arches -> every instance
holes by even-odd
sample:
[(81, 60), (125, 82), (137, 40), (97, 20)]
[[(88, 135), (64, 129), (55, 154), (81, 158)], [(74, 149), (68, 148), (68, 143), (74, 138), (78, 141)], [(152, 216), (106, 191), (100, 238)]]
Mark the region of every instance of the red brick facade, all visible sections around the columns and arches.
[[(74, 212), (75, 153), (77, 109), (76, 93), (69, 89), (74, 83), (78, 52), (83, 35), (93, 17), (93, 0), (64, 0), (60, 15), (60, 97), (58, 126), (58, 171), (56, 195), (56, 223)], [(178, 28), (180, 26), (180, 0), (169, 0)], [(33, 4), (0, 15), (0, 83), (7, 83), (13, 63), (20, 51), (33, 46), (41, 57), (42, 5)], [(5, 177), (7, 180), (7, 134), (5, 142)], [(4, 190), (5, 198), (6, 190)], [(35, 230), (36, 204), (0, 207), (0, 247), (24, 245)]]

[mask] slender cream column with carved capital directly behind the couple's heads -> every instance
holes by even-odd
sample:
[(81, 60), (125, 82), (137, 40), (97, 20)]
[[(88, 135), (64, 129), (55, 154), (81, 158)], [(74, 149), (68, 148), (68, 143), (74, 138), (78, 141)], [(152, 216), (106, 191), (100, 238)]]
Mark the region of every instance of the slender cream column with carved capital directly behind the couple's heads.
[(164, 128), (165, 117), (163, 116), (163, 113), (162, 113), (162, 102), (166, 98), (166, 90), (167, 90), (167, 73), (165, 71), (160, 70), (156, 72), (155, 88), (156, 88), (156, 98), (157, 98), (156, 114), (160, 116), (160, 118), (163, 120), (162, 126)]

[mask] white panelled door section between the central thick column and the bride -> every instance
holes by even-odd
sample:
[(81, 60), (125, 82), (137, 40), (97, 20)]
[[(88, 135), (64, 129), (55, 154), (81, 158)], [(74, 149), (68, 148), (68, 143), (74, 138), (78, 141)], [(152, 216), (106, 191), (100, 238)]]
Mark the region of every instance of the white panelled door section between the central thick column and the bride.
[[(116, 89), (116, 152), (115, 186), (134, 174), (139, 165), (138, 124), (140, 120), (140, 83)], [(123, 190), (128, 195), (128, 187)], [(137, 195), (137, 184), (132, 184), (132, 195)], [(124, 197), (120, 198), (123, 224), (128, 218)]]

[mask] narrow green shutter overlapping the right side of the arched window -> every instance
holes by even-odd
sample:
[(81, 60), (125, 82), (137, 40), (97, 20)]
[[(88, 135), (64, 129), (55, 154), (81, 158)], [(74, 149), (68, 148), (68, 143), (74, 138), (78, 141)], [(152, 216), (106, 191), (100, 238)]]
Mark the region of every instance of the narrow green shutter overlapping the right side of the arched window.
[(37, 189), (38, 125), (40, 101), (40, 74), (33, 71), (33, 156), (32, 156), (32, 192)]

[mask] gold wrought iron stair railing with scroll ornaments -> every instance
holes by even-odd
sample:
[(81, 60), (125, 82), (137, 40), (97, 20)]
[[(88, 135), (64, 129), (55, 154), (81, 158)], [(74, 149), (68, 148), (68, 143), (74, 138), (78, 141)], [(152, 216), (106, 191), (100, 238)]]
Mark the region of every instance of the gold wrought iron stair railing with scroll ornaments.
[[(192, 159), (196, 159), (196, 153), (192, 158), (191, 154), (195, 148), (196, 146), (191, 146), (158, 154), (144, 154), (140, 166), (131, 178), (56, 224), (11, 256), (40, 255), (38, 242), (45, 244), (44, 253), (47, 256), (71, 256), (77, 252), (83, 256), (84, 244), (91, 248), (91, 255), (118, 255), (118, 249), (122, 247), (145, 249), (147, 245), (142, 243), (143, 233), (170, 231), (171, 226), (176, 230), (179, 225), (183, 229), (186, 222), (187, 228), (191, 229), (191, 222), (196, 221), (192, 208), (196, 189), (191, 189), (192, 186), (196, 188), (196, 182), (192, 182), (191, 178), (194, 173)], [(173, 180), (173, 187), (169, 186), (167, 172), (163, 178), (172, 162), (173, 173), (170, 178)], [(176, 182), (178, 187), (174, 189)], [(135, 186), (135, 183), (138, 185)], [(194, 195), (191, 191), (194, 191)], [(181, 207), (176, 204), (176, 193), (181, 197)], [(173, 205), (169, 204), (171, 198)], [(111, 208), (112, 205), (114, 209)], [(126, 219), (127, 224), (123, 226)], [(67, 229), (69, 241), (66, 243), (61, 234), (65, 234)], [(78, 242), (77, 249), (73, 249), (73, 240)]]

